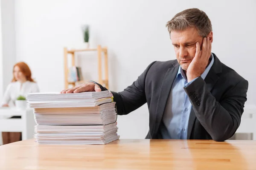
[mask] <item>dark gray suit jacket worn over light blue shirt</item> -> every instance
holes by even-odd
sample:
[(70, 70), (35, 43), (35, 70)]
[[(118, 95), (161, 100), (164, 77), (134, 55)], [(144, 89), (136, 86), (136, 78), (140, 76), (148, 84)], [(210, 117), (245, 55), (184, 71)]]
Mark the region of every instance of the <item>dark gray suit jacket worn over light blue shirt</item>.
[[(214, 63), (207, 77), (198, 77), (184, 88), (192, 104), (187, 139), (224, 141), (233, 136), (241, 122), (248, 81), (213, 55)], [(161, 139), (159, 127), (178, 68), (177, 60), (152, 62), (124, 91), (112, 91), (118, 115), (148, 104), (146, 139)]]

